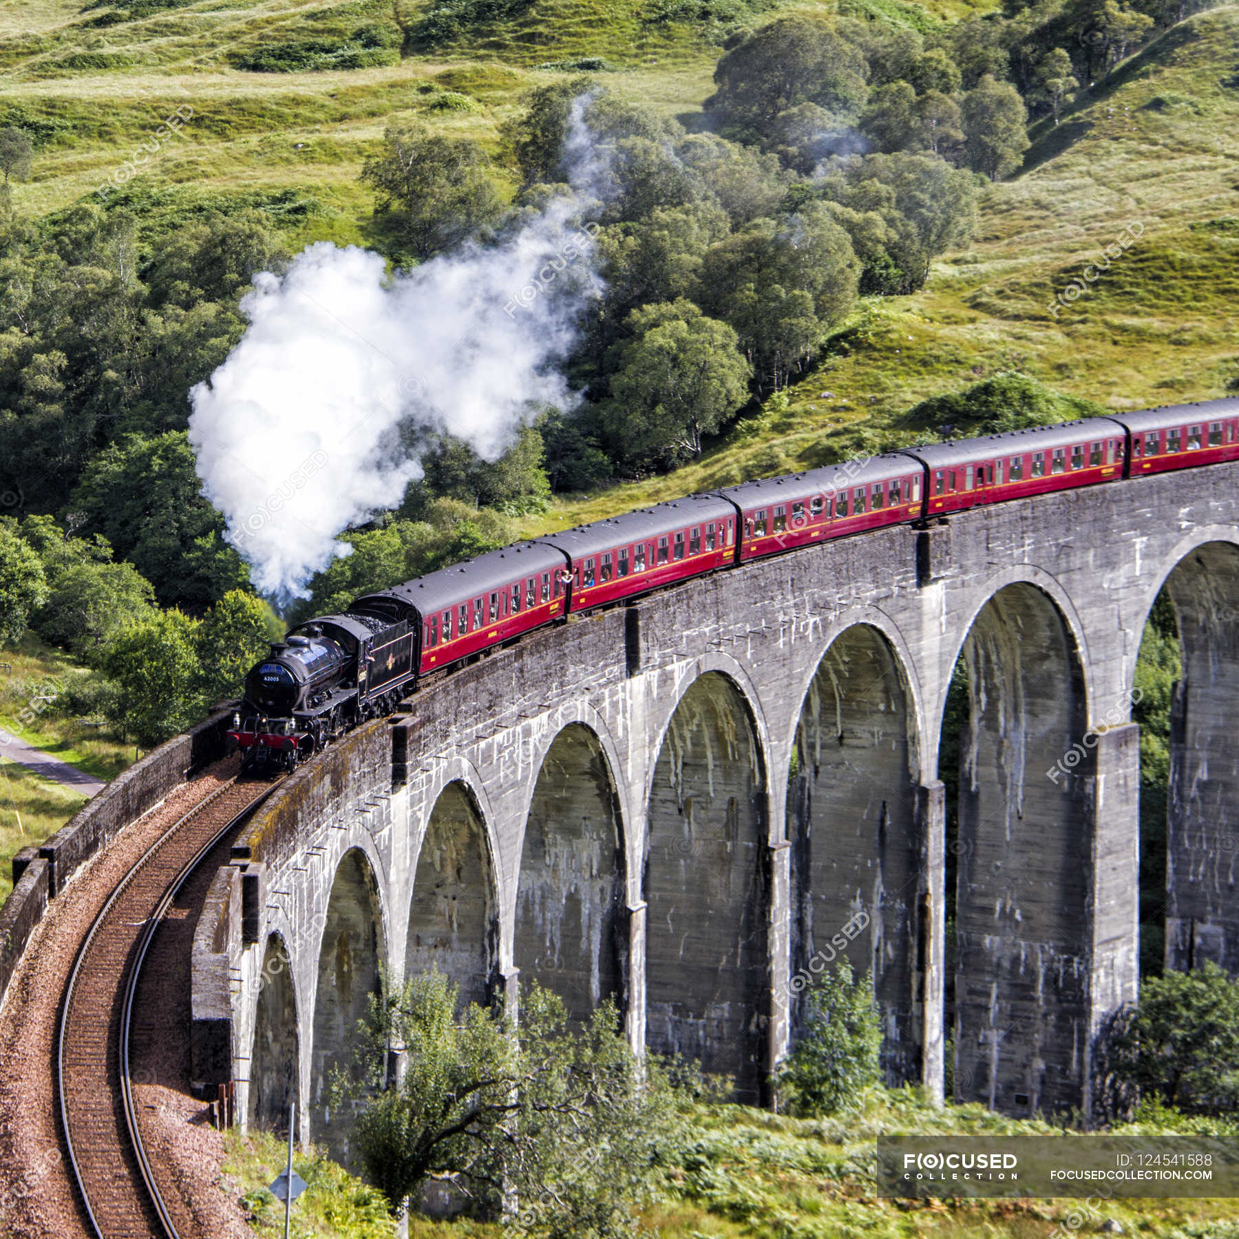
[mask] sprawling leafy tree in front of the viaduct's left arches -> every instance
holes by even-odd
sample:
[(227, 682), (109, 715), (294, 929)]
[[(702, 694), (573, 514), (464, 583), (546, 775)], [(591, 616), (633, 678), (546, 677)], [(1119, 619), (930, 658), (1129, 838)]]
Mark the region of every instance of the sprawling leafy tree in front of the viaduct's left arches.
[[(472, 1005), (437, 970), (387, 986), (358, 1026), (353, 1070), (336, 1104), (366, 1098), (353, 1142), (393, 1213), (431, 1177), (497, 1208), (504, 1189), (520, 1227), (546, 1239), (620, 1239), (649, 1192), (668, 1140), (672, 1094), (658, 1064), (644, 1078), (611, 1002), (581, 1030), (536, 984), (520, 1023)], [(408, 1068), (389, 1087), (389, 1047)]]

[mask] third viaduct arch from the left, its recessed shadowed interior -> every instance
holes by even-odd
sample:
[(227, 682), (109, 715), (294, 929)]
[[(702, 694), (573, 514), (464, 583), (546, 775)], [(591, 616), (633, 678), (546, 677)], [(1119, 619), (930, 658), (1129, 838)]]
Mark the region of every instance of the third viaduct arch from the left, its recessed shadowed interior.
[(405, 976), (437, 969), (462, 1004), (487, 1005), (499, 968), (499, 886), (473, 788), (452, 779), (435, 797), (418, 852)]

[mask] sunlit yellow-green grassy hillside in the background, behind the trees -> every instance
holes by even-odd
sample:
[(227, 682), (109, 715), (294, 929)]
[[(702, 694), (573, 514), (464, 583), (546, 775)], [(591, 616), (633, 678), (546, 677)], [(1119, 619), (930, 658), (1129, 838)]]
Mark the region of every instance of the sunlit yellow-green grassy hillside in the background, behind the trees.
[[(963, 11), (937, 0), (926, 7), (935, 16)], [(499, 155), (499, 125), (524, 89), (548, 81), (534, 67), (543, 61), (603, 55), (624, 68), (603, 76), (608, 87), (693, 124), (719, 48), (709, 32), (652, 27), (642, 11), (642, 0), (534, 0), (437, 57), (280, 74), (242, 73), (228, 57), (387, 20), (385, 0), (195, 0), (102, 30), (85, 27), (93, 10), (71, 0), (0, 0), (0, 103), (63, 126), (15, 199), (32, 213), (69, 204), (188, 103), (183, 138), (130, 185), (136, 211), (180, 212), (206, 193), (237, 192), (285, 212), (294, 243), (364, 244), (369, 196), (357, 172), (384, 125), (420, 116), (473, 134)], [(1085, 95), (1061, 126), (1043, 125), (1028, 170), (987, 191), (968, 250), (937, 263), (922, 292), (862, 306), (793, 389), (787, 411), (737, 427), (669, 477), (560, 502), (529, 529), (815, 463), (824, 439), (871, 413), (897, 413), (999, 369), (1020, 368), (1114, 408), (1219, 395), (1237, 338), (1237, 40), (1234, 9), (1192, 19)], [(81, 52), (133, 63), (66, 68), (64, 58)], [(482, 109), (436, 109), (445, 88)], [(271, 202), (281, 193), (300, 202), (291, 218), (286, 203)], [(1052, 317), (1054, 292), (1134, 221), (1144, 234), (1130, 253), (1088, 297)]]

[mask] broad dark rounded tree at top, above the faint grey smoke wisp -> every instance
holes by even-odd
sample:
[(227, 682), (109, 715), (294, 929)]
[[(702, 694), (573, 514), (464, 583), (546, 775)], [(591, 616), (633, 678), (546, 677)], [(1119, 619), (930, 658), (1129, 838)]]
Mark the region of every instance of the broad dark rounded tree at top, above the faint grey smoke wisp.
[(779, 113), (800, 103), (855, 114), (865, 102), (865, 74), (860, 50), (829, 24), (778, 17), (719, 61), (717, 90), (705, 108), (724, 124), (767, 139)]

